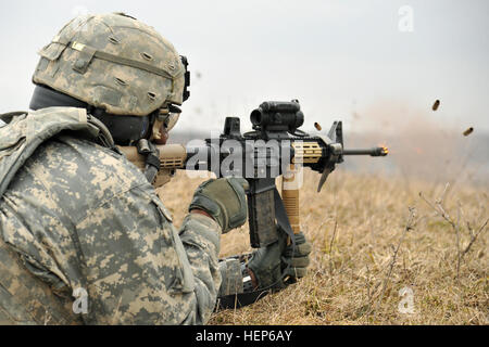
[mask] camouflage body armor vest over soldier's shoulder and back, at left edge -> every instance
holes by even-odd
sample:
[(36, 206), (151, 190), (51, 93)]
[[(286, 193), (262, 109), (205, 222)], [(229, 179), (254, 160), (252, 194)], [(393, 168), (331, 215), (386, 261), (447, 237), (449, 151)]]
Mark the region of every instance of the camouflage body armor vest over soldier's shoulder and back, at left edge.
[[(8, 124), (0, 127), (0, 198), (34, 151), (62, 131), (80, 132), (114, 147), (106, 128), (83, 108), (51, 107), (1, 115), (0, 119)], [(0, 325), (82, 324), (82, 317), (72, 309), (71, 293), (54, 293), (1, 236), (0, 230)]]

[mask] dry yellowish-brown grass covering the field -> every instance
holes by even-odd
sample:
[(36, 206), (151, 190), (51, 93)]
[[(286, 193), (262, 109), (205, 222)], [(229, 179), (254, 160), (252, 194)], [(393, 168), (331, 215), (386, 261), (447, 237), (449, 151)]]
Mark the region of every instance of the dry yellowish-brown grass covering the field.
[[(200, 181), (180, 172), (162, 189), (177, 226)], [(446, 182), (339, 170), (317, 194), (317, 181), (306, 170), (301, 190), (309, 274), (252, 306), (215, 313), (210, 324), (489, 323), (486, 185), (446, 190)], [(222, 237), (222, 256), (248, 245), (246, 227), (235, 230)], [(414, 313), (398, 309), (403, 287), (413, 291)]]

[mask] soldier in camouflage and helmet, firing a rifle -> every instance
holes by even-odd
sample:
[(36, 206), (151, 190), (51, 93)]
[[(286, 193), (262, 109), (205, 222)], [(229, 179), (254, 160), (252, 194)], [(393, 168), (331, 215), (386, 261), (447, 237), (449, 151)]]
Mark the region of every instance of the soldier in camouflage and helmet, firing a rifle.
[[(39, 54), (33, 111), (0, 117), (1, 324), (205, 324), (218, 295), (281, 288), (285, 265), (304, 275), (303, 234), (218, 260), (247, 218), (243, 179), (201, 184), (172, 224), (151, 143), (188, 98), (186, 64), (153, 28), (84, 15)], [(141, 143), (145, 172), (116, 146)]]

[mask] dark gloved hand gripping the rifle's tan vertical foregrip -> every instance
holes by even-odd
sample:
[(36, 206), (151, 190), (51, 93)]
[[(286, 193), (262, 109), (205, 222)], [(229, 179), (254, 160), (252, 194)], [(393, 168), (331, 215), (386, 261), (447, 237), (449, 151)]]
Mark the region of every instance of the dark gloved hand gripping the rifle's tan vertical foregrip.
[(248, 268), (253, 272), (259, 290), (281, 290), (305, 275), (312, 246), (302, 232), (296, 234), (294, 240), (296, 246), (287, 245), (284, 234), (277, 242), (252, 254)]

